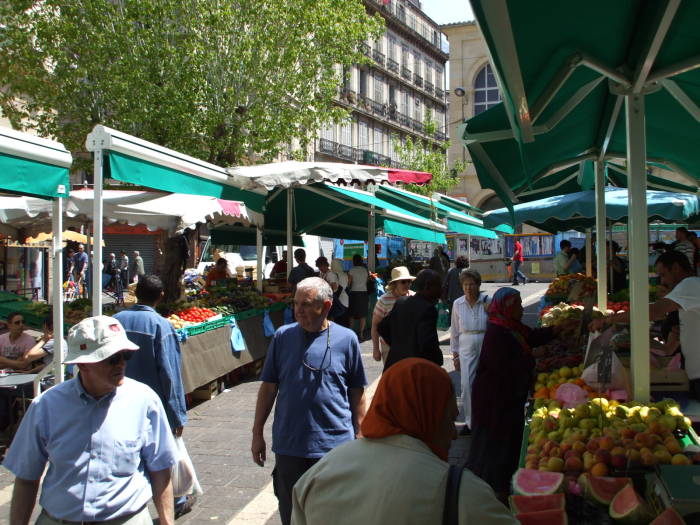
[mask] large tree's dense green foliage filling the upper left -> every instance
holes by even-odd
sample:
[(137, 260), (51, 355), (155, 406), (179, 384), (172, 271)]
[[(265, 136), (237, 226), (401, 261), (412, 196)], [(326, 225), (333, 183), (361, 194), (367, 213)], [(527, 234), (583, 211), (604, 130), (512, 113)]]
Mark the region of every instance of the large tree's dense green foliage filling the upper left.
[(0, 2), (0, 108), (84, 150), (96, 124), (219, 165), (306, 144), (338, 65), (382, 31), (360, 0)]

